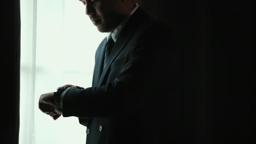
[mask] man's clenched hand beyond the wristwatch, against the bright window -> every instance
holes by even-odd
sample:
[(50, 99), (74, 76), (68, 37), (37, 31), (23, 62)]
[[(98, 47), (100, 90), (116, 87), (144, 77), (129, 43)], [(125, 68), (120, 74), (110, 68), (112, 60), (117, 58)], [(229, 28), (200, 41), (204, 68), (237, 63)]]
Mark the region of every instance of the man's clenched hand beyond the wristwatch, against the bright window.
[(62, 115), (62, 109), (54, 102), (54, 93), (42, 94), (39, 98), (39, 109), (46, 115), (50, 115), (54, 120)]

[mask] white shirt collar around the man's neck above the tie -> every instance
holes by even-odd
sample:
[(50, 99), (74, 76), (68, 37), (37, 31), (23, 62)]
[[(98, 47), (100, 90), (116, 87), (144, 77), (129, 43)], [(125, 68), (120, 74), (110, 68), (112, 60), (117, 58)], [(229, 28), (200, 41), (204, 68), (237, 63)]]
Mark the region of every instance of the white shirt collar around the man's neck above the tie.
[(115, 28), (115, 30), (113, 32), (110, 32), (110, 34), (108, 35), (108, 37), (112, 37), (112, 39), (115, 41), (117, 41), (118, 36), (121, 32), (121, 30), (124, 28), (124, 26), (126, 25), (126, 23), (130, 20), (131, 16), (133, 13), (135, 13), (135, 11), (138, 9), (138, 4), (136, 3), (135, 8), (132, 9), (131, 13), (125, 17), (125, 19), (119, 24), (119, 26), (117, 28)]

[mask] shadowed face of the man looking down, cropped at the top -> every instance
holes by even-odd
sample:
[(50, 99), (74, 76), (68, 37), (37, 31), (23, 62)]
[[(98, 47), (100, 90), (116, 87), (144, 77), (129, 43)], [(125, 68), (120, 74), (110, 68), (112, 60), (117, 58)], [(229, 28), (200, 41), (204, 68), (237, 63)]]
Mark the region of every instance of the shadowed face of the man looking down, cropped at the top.
[(120, 13), (121, 0), (80, 0), (86, 7), (86, 15), (100, 32), (110, 32), (119, 25), (124, 15)]

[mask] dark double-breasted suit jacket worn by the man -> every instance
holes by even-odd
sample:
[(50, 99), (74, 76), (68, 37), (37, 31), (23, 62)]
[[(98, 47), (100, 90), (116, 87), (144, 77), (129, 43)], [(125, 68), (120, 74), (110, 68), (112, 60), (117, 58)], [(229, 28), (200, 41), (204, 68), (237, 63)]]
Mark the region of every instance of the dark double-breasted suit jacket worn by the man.
[(172, 88), (167, 67), (172, 55), (164, 34), (168, 30), (138, 8), (104, 70), (106, 39), (98, 46), (92, 87), (70, 88), (63, 99), (63, 117), (78, 117), (88, 128), (87, 144), (165, 139), (166, 129), (159, 124), (167, 121), (165, 93)]

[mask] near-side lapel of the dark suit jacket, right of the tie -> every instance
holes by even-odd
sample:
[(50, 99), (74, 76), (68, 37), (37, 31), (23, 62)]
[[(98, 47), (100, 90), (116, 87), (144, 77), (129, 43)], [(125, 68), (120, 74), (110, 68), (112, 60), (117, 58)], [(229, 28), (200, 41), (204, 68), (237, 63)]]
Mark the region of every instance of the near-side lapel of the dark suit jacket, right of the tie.
[(126, 23), (126, 26), (124, 27), (123, 31), (120, 33), (117, 41), (115, 42), (112, 51), (110, 52), (109, 58), (106, 62), (106, 68), (103, 69), (100, 80), (98, 82), (98, 86), (101, 86), (106, 77), (107, 71), (109, 69), (110, 64), (114, 61), (114, 59), (119, 55), (119, 53), (124, 49), (124, 47), (127, 45), (129, 40), (132, 38), (133, 34), (135, 33), (136, 29), (139, 25), (139, 15), (141, 13), (141, 9), (138, 8), (136, 12), (132, 15), (129, 22)]

